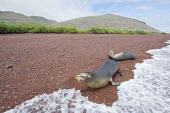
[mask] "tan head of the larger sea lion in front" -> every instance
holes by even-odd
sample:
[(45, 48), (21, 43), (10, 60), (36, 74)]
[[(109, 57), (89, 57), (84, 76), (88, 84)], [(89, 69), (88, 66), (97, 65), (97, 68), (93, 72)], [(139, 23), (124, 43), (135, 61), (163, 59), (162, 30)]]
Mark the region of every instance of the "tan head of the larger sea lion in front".
[(89, 83), (93, 80), (91, 72), (80, 73), (75, 76), (75, 79), (80, 83)]

